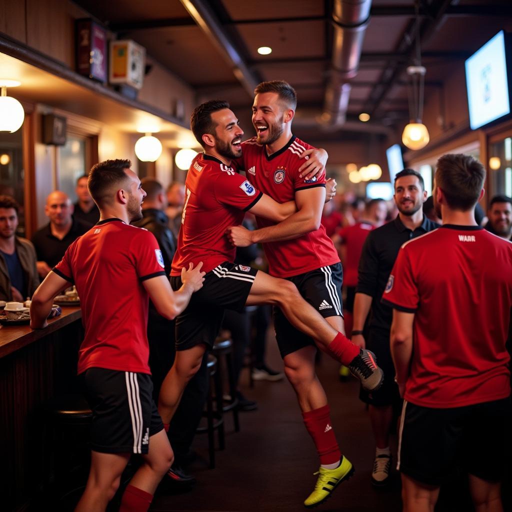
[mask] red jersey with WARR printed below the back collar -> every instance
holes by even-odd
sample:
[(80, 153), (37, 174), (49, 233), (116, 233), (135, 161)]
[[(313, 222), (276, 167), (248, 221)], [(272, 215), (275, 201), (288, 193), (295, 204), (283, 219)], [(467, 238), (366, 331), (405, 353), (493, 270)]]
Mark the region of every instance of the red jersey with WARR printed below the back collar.
[(406, 400), (442, 409), (510, 395), (512, 243), (445, 224), (401, 247), (382, 300), (415, 313)]

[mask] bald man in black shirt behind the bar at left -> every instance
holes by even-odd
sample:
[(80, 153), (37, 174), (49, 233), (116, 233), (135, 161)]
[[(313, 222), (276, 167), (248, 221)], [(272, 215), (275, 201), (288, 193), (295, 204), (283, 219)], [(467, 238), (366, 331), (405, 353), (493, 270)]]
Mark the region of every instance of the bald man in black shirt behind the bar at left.
[(45, 214), (50, 222), (37, 230), (32, 243), (41, 279), (63, 258), (66, 249), (91, 226), (73, 219), (73, 205), (67, 194), (55, 190), (46, 199)]

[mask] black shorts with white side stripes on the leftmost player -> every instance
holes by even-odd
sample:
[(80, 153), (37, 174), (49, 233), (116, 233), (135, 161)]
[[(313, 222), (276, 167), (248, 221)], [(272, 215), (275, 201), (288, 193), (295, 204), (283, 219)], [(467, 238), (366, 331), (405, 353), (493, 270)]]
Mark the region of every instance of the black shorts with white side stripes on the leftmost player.
[(89, 368), (80, 378), (93, 412), (92, 450), (147, 454), (150, 437), (163, 429), (151, 375)]

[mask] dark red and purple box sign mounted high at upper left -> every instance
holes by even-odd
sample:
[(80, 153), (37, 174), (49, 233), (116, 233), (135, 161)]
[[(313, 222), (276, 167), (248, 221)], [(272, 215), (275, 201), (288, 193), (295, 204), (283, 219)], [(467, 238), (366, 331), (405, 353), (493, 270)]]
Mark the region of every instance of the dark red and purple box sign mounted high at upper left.
[(106, 31), (92, 19), (76, 22), (76, 70), (100, 82), (106, 82)]

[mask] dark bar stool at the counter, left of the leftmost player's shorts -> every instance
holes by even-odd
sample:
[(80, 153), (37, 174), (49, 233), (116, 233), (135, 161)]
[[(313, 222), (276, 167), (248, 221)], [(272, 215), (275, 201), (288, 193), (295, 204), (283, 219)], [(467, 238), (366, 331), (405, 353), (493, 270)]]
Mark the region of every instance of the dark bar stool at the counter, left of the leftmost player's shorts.
[[(89, 426), (93, 414), (81, 395), (62, 395), (52, 398), (46, 402), (45, 409), (47, 412), (46, 483), (49, 483), (53, 469), (54, 484), (59, 488), (59, 494), (65, 494), (62, 486), (65, 477), (69, 478), (77, 468), (83, 468), (87, 464), (90, 451)], [(79, 451), (75, 450), (77, 445)], [(78, 456), (75, 460), (78, 464), (71, 468), (70, 453)]]

